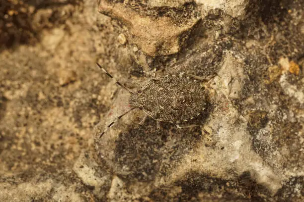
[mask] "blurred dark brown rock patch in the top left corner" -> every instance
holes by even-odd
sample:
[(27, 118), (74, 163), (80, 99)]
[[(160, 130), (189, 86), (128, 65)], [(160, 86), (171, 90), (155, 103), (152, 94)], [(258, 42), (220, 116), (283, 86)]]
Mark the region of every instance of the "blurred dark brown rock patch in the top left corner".
[[(39, 32), (72, 16), (82, 0), (1, 0), (0, 51), (18, 44), (35, 44)], [(54, 6), (55, 5), (55, 6)]]

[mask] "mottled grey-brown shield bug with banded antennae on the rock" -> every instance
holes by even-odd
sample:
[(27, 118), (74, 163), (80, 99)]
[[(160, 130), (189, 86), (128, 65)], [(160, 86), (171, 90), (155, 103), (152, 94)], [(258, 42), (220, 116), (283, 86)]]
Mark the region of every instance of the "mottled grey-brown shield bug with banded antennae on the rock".
[[(114, 79), (100, 64), (97, 66)], [(189, 119), (200, 115), (206, 108), (206, 92), (197, 80), (204, 80), (199, 76), (185, 72), (179, 75), (167, 75), (152, 78), (138, 92), (134, 93), (116, 80), (116, 84), (130, 93), (129, 105), (131, 109), (111, 122), (100, 134), (101, 138), (104, 133), (121, 117), (135, 108), (142, 109), (146, 114), (140, 124), (143, 124), (148, 116), (159, 122), (178, 124), (186, 122)]]

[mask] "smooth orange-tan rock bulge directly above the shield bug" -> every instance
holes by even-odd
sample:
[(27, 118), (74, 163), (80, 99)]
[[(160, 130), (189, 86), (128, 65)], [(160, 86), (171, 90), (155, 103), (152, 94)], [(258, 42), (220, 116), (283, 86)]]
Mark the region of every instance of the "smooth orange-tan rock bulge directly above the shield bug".
[[(123, 3), (100, 1), (99, 12), (122, 21), (130, 32), (130, 41), (147, 55), (169, 55), (180, 50), (199, 17), (190, 14), (181, 20), (161, 16), (154, 18), (131, 9)], [(176, 16), (178, 17), (178, 16)]]

